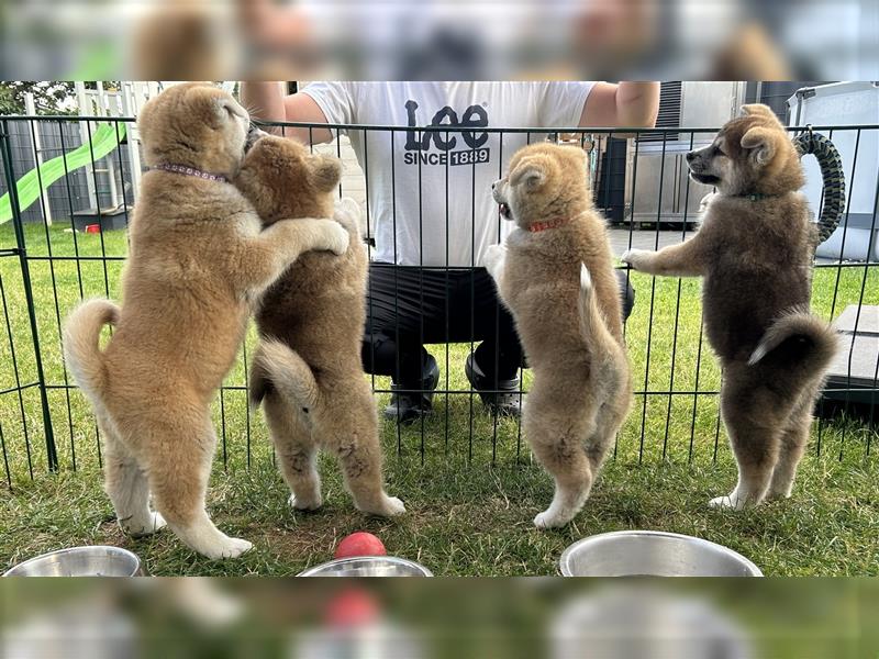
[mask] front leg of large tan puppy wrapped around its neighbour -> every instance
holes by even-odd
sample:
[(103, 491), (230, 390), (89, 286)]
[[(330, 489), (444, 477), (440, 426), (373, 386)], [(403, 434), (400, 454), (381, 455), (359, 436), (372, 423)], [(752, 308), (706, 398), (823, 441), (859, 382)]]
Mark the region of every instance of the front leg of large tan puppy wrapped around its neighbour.
[(245, 241), (241, 268), (245, 288), (263, 291), (302, 253), (329, 250), (342, 255), (349, 242), (348, 232), (334, 220), (305, 217), (276, 222)]

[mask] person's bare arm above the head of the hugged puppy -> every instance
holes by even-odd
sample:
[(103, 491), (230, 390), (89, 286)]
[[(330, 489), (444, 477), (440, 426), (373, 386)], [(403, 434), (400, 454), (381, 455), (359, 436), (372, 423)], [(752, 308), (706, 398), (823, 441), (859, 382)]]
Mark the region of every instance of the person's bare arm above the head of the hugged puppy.
[[(285, 97), (281, 86), (281, 82), (242, 82), (242, 103), (251, 112), (251, 116), (264, 121), (327, 123), (323, 110), (314, 99), (301, 92)], [(312, 129), (311, 135), (309, 129), (293, 126), (276, 126), (271, 132), (304, 144), (309, 143), (309, 137), (314, 144), (333, 139), (333, 134), (327, 129)]]

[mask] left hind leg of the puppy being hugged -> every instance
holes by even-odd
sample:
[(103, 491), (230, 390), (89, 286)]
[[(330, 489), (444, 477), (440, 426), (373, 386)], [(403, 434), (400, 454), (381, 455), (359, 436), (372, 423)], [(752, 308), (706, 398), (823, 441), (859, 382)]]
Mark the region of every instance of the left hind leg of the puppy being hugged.
[(283, 480), (290, 487), (290, 505), (315, 511), (323, 505), (318, 473), (318, 445), (302, 412), (277, 391), (267, 394), (263, 409)]

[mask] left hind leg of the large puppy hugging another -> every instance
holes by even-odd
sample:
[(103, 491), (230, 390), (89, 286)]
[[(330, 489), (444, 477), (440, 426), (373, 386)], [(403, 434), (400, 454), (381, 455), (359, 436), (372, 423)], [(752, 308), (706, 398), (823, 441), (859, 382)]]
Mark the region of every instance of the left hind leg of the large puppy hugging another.
[(99, 415), (98, 426), (104, 440), (104, 490), (120, 527), (133, 537), (156, 533), (165, 526), (165, 520), (149, 510), (146, 474), (116, 435), (112, 422)]

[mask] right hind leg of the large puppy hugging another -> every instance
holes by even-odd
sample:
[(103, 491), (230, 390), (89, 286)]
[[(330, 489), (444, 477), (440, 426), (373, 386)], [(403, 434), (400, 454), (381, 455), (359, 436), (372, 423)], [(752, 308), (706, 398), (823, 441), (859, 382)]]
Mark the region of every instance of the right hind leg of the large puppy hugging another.
[(147, 473), (156, 509), (191, 549), (212, 559), (237, 558), (253, 547), (213, 524), (204, 510), (216, 437), (210, 418), (171, 415), (151, 424)]

